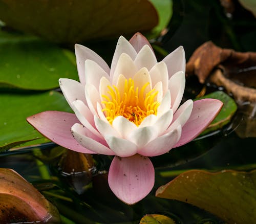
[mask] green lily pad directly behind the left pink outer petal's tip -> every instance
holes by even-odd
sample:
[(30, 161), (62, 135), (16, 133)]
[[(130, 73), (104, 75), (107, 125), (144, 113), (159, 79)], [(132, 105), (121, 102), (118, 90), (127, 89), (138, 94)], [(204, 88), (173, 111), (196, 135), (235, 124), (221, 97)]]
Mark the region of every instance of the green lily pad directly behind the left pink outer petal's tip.
[(49, 142), (27, 123), (27, 117), (45, 110), (71, 112), (65, 98), (54, 91), (22, 95), (2, 93), (0, 102), (0, 151), (39, 138), (37, 144)]

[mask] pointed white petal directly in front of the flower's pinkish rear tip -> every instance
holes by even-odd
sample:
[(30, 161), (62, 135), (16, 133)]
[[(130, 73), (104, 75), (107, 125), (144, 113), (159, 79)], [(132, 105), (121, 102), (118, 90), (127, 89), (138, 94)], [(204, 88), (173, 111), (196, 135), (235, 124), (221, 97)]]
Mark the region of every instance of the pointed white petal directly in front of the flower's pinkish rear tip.
[(148, 71), (157, 63), (156, 56), (150, 46), (144, 45), (134, 60), (138, 69), (146, 67)]

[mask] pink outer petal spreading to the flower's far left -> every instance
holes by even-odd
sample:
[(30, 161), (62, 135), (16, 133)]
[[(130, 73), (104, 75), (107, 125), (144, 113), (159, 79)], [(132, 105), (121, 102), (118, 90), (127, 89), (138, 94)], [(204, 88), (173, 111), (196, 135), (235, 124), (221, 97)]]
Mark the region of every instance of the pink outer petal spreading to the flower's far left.
[(60, 146), (77, 152), (94, 153), (79, 145), (73, 138), (70, 128), (79, 122), (74, 114), (45, 111), (28, 117), (27, 121), (42, 135)]

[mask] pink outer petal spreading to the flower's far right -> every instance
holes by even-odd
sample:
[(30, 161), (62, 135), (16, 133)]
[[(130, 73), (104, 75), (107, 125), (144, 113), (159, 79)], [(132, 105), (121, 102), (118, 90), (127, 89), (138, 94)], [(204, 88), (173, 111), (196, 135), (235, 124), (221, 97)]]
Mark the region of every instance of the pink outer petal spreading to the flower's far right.
[(179, 147), (195, 139), (219, 114), (223, 103), (216, 99), (202, 99), (194, 102), (192, 113), (182, 127), (181, 138), (174, 146)]

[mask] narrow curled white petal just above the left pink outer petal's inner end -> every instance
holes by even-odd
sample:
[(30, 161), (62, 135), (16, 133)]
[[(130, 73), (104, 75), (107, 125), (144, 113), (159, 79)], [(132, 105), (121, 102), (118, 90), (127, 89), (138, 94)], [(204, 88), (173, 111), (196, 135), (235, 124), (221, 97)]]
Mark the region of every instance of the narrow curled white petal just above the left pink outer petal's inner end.
[(99, 138), (103, 138), (100, 133), (95, 129), (94, 118), (90, 109), (84, 105), (84, 103), (80, 100), (76, 100), (73, 102), (74, 112), (78, 120), (94, 135)]

